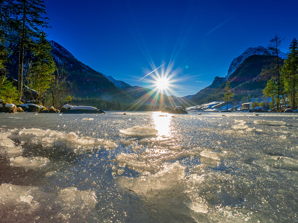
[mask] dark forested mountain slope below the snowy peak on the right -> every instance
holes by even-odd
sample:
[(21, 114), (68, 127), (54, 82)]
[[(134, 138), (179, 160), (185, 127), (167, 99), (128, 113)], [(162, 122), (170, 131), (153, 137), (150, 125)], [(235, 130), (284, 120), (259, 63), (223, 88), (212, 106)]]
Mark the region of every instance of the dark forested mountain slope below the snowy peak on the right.
[(194, 105), (209, 103), (212, 101), (223, 100), (226, 81), (230, 82), (234, 100), (240, 101), (243, 96), (248, 94), (252, 97), (262, 97), (263, 89), (266, 87), (267, 80), (260, 78), (260, 73), (264, 65), (270, 65), (274, 56), (252, 55), (244, 61), (227, 78), (215, 77), (213, 83), (202, 89), (191, 98)]

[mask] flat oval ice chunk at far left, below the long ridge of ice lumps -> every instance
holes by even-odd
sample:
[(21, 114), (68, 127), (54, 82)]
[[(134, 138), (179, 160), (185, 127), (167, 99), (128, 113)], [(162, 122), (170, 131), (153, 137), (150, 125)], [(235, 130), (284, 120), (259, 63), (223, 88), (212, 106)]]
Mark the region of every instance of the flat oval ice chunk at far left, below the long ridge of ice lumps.
[(41, 156), (29, 158), (18, 156), (15, 158), (10, 158), (10, 161), (10, 166), (24, 167), (25, 169), (36, 169), (44, 167), (49, 162), (49, 159)]

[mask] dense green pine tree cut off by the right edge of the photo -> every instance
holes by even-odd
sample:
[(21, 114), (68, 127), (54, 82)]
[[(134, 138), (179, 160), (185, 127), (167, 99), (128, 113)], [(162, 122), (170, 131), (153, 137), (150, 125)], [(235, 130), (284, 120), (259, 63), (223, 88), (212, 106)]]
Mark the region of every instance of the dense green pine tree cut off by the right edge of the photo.
[(289, 46), (287, 59), (282, 67), (285, 88), (290, 95), (292, 108), (297, 107), (296, 94), (298, 87), (298, 42), (294, 38)]

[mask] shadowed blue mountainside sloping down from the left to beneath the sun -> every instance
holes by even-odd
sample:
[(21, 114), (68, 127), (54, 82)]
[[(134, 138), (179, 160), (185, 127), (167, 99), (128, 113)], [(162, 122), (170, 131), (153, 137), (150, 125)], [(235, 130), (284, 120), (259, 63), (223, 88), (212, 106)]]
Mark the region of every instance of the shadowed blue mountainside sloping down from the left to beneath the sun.
[(148, 105), (164, 105), (165, 101), (171, 106), (180, 106), (185, 99), (176, 96), (160, 94), (145, 87), (131, 86), (124, 81), (104, 75), (91, 67), (78, 61), (63, 46), (54, 41), (52, 54), (57, 66), (63, 66), (69, 73), (69, 80), (77, 86), (76, 97), (100, 98), (106, 100), (122, 101), (125, 103), (138, 103)]

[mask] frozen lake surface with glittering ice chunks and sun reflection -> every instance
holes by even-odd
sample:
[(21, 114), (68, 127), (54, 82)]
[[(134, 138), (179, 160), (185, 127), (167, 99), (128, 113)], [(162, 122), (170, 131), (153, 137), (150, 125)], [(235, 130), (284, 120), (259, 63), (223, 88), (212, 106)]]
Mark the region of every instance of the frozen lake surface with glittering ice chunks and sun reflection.
[(125, 113), (0, 114), (0, 222), (297, 222), (298, 114)]

